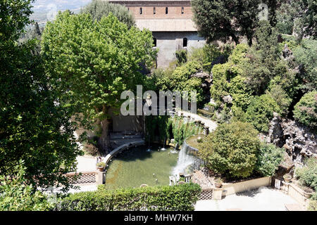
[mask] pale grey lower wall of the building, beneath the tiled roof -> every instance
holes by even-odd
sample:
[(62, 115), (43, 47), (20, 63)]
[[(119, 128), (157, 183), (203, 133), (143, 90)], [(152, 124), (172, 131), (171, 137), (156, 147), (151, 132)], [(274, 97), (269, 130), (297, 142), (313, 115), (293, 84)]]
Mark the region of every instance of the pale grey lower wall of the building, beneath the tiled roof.
[(159, 49), (158, 68), (167, 68), (170, 62), (175, 60), (175, 51), (184, 49), (184, 38), (187, 38), (187, 51), (206, 44), (204, 37), (199, 37), (197, 32), (153, 32), (153, 37), (156, 38), (156, 48)]

